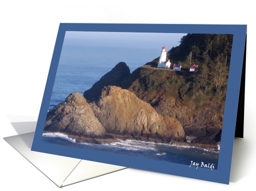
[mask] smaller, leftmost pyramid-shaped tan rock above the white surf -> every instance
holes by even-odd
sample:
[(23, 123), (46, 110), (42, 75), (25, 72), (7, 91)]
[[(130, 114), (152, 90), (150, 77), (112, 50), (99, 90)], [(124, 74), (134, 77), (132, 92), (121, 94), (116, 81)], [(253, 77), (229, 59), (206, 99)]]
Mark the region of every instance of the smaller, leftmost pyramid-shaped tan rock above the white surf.
[(105, 128), (79, 92), (71, 93), (64, 102), (48, 112), (44, 130), (90, 137), (105, 134)]

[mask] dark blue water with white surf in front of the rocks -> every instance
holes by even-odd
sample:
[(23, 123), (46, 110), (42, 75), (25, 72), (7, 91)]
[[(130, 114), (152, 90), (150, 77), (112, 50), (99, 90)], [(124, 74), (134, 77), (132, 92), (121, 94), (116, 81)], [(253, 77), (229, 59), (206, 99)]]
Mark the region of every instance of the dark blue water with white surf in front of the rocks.
[(108, 144), (76, 143), (75, 139), (68, 138), (61, 133), (44, 133), (43, 141), (64, 144), (86, 149), (100, 150), (120, 154), (145, 157), (155, 160), (175, 162), (190, 165), (191, 160), (196, 162), (213, 163), (218, 166), (218, 151), (213, 149), (180, 147), (163, 143), (147, 142), (141, 140), (119, 140)]

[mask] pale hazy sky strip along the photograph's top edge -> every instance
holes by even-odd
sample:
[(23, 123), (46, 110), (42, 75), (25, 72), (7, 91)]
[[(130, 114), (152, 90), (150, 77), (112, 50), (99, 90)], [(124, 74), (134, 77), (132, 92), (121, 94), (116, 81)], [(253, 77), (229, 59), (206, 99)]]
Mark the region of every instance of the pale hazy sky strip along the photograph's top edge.
[(169, 48), (179, 45), (179, 41), (184, 33), (153, 33), (153, 32), (86, 32), (67, 31), (65, 39), (81, 40), (81, 42), (91, 45), (101, 45), (104, 47), (123, 46), (154, 48), (163, 45)]

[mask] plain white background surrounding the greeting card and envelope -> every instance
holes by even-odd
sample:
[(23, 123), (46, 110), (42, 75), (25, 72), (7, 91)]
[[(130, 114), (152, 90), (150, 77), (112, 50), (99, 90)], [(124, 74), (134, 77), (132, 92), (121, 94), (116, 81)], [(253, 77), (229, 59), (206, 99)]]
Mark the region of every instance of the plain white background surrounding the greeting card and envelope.
[[(239, 3), (237, 3), (239, 2)], [(37, 116), (60, 22), (247, 24), (244, 139), (235, 144), (229, 185), (135, 169), (63, 190), (241, 190), (255, 179), (255, 6), (246, 0), (8, 0), (0, 4), (0, 189), (57, 190), (2, 137), (17, 134), (11, 115)], [(239, 77), (239, 76), (238, 76)], [(9, 115), (9, 118), (8, 116)], [(37, 117), (31, 117), (37, 118)]]

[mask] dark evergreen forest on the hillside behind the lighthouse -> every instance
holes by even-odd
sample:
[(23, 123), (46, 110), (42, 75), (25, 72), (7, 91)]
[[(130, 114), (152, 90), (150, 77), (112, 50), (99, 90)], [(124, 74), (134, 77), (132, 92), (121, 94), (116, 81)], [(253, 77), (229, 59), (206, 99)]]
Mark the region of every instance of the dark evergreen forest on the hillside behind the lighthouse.
[[(230, 65), (232, 34), (191, 34), (183, 36), (180, 45), (168, 51), (168, 58), (174, 63), (182, 64), (184, 71), (192, 64), (198, 70), (187, 74), (188, 83), (183, 91), (195, 96), (226, 95), (228, 71)], [(159, 57), (146, 64), (157, 67)]]

